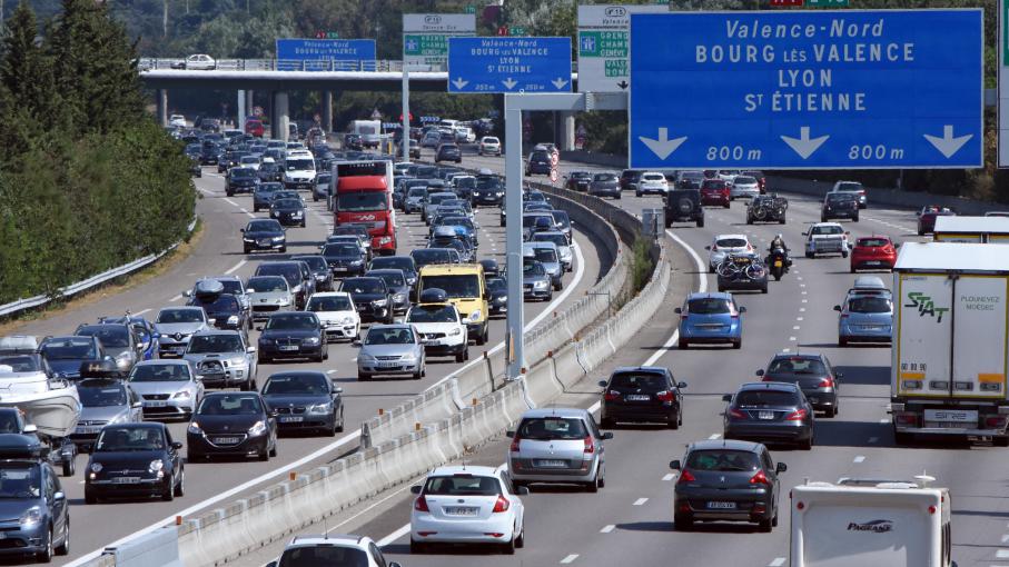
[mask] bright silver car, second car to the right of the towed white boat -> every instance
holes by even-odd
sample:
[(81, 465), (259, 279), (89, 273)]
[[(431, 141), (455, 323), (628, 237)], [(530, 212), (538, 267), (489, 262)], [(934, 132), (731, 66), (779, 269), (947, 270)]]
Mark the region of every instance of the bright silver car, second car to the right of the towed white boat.
[(144, 417), (189, 418), (204, 385), (188, 360), (145, 360), (133, 367), (130, 388), (144, 400)]

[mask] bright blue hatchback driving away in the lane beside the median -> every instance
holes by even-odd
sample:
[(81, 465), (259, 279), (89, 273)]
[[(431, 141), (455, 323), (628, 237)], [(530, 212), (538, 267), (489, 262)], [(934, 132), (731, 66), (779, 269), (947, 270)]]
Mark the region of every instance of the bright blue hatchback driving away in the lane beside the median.
[(743, 346), (746, 308), (736, 306), (732, 294), (691, 294), (675, 312), (680, 315), (681, 349), (686, 349), (691, 342)]

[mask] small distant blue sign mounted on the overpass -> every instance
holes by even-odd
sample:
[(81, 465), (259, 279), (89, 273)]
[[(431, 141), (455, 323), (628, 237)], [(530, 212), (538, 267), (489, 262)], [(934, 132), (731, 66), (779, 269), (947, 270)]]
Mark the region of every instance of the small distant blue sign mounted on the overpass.
[[(278, 39), (279, 70), (324, 71), (360, 67), (375, 61), (374, 39)], [(342, 64), (333, 64), (338, 61)]]

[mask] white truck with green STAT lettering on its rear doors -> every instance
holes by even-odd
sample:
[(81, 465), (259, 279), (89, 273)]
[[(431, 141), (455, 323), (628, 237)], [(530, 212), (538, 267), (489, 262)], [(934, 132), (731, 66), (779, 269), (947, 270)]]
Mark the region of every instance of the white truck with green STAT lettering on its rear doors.
[(1009, 247), (908, 242), (893, 268), (890, 414), (914, 435), (1009, 446)]

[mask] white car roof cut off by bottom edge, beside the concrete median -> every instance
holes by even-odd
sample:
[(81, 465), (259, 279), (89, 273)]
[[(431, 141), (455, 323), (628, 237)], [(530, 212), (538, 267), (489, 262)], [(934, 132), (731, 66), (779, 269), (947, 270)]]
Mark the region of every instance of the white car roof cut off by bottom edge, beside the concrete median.
[(316, 565), (354, 565), (360, 567), (399, 567), (386, 561), (382, 549), (369, 537), (347, 535), (295, 536), (276, 560), (266, 567), (315, 567)]

